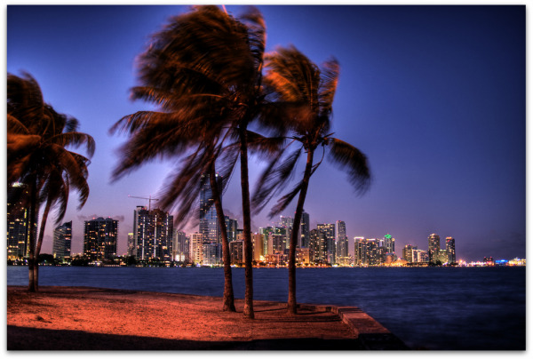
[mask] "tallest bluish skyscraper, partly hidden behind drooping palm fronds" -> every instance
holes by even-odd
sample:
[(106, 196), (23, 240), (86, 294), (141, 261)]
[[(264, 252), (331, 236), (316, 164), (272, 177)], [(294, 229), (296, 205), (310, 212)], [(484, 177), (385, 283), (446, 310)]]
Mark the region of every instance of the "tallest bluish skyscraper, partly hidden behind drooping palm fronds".
[[(221, 180), (216, 174), (217, 182)], [(203, 174), (200, 180), (200, 225), (199, 232), (203, 235), (203, 243), (220, 243), (220, 226), (217, 209), (211, 193), (209, 174)]]

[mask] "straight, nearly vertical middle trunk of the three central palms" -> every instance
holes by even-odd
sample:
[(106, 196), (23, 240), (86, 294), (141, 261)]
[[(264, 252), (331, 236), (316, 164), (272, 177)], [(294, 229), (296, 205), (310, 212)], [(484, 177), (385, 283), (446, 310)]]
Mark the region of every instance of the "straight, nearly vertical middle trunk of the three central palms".
[(251, 214), (250, 187), (248, 183), (248, 137), (246, 125), (239, 128), (241, 140), (241, 191), (243, 196), (243, 235), (244, 235), (244, 308), (245, 317), (253, 319), (253, 274), (251, 268)]

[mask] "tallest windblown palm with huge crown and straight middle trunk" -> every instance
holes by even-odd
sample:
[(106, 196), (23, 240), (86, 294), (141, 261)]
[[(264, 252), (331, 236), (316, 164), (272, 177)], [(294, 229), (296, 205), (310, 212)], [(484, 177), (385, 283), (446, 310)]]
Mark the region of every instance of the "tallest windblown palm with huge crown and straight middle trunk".
[[(123, 148), (123, 154), (130, 158), (126, 161), (131, 160), (132, 166), (156, 154), (184, 156), (187, 149), (195, 148), (179, 171), (171, 175), (170, 185), (165, 189), (166, 202), (162, 203), (167, 206), (193, 203), (184, 192), (198, 183), (194, 180), (199, 179), (201, 172), (213, 173), (212, 165), (219, 161), (219, 156), (224, 157), (220, 164), (227, 171), (223, 172), (233, 171), (240, 158), (246, 283), (243, 312), (250, 318), (253, 318), (253, 287), (248, 150), (268, 141), (250, 132), (248, 126), (257, 118), (263, 124), (269, 121), (274, 124), (273, 116), (262, 110), (263, 106), (267, 107), (261, 89), (265, 34), (262, 15), (254, 8), (239, 20), (217, 6), (197, 6), (191, 12), (171, 18), (139, 57), (142, 85), (132, 91), (133, 99), (152, 101), (163, 112), (140, 114), (131, 119), (129, 130), (136, 132), (151, 126), (147, 123), (157, 124), (161, 120), (165, 123), (161, 124), (161, 131), (177, 132), (176, 138), (167, 133), (169, 138), (165, 139), (158, 129), (158, 137), (143, 137), (152, 144), (143, 147), (149, 153), (139, 155), (133, 146)], [(273, 109), (270, 114), (274, 112)], [(254, 140), (258, 141), (251, 145)], [(141, 141), (136, 143), (143, 146)], [(222, 214), (221, 206), (215, 204)]]

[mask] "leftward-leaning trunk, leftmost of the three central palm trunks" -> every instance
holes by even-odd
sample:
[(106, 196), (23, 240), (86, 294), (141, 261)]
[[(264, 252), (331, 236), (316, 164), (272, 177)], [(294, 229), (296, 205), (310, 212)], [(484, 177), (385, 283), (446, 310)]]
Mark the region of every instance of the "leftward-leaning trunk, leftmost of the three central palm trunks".
[(209, 181), (211, 184), (211, 195), (213, 195), (215, 209), (217, 210), (217, 219), (219, 219), (220, 235), (222, 236), (222, 259), (224, 260), (224, 297), (222, 299), (222, 310), (225, 312), (235, 312), (235, 299), (229, 257), (229, 242), (227, 241), (226, 219), (224, 218), (222, 198), (220, 197), (219, 186), (215, 176), (215, 163), (214, 161), (211, 161), (209, 169)]

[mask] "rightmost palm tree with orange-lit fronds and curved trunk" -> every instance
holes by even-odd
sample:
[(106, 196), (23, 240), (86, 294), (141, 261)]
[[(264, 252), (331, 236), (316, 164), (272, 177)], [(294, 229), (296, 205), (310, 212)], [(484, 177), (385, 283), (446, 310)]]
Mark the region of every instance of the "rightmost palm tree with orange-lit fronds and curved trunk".
[[(296, 314), (296, 243), (298, 226), (306, 201), (309, 180), (325, 154), (334, 164), (346, 170), (348, 179), (356, 192), (362, 194), (370, 185), (370, 170), (367, 158), (352, 145), (331, 137), (330, 117), (333, 98), (338, 83), (339, 66), (337, 60), (325, 62), (322, 71), (294, 46), (280, 48), (267, 55), (267, 76), (265, 83), (271, 88), (277, 100), (293, 105), (288, 124), (293, 131), (290, 138), (298, 143), (298, 148), (286, 155), (286, 149), (275, 156), (267, 170), (263, 172), (253, 202), (260, 211), (267, 202), (284, 187), (295, 171), (302, 150), (306, 152), (306, 167), (303, 178), (288, 194), (278, 200), (270, 211), (270, 216), (283, 211), (298, 195), (294, 215), (294, 228), (290, 235), (289, 251), (289, 299), (288, 312)], [(322, 158), (314, 163), (314, 152), (322, 147)]]

